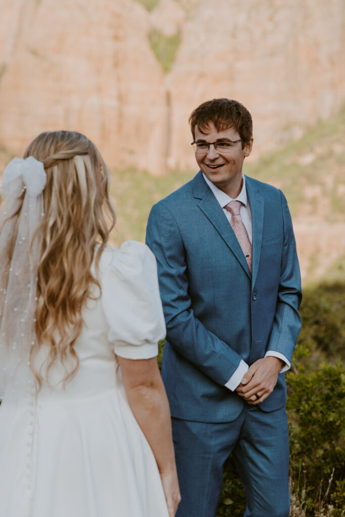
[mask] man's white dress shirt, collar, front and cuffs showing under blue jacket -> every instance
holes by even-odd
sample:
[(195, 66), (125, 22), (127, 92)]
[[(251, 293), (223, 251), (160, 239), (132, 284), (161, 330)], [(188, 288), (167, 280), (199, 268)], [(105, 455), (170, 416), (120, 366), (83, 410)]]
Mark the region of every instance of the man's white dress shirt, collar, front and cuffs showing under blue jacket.
[[(245, 176), (242, 176), (243, 177), (242, 189), (235, 200), (233, 200), (230, 196), (228, 196), (228, 194), (226, 194), (225, 192), (220, 190), (218, 187), (216, 187), (212, 183), (212, 181), (209, 181), (209, 179), (206, 178), (206, 176), (204, 174), (203, 174), (203, 177), (204, 177), (204, 180), (206, 181), (207, 185), (209, 186), (209, 188), (214, 193), (216, 200), (222, 207), (223, 212), (224, 212), (226, 218), (228, 219), (229, 223), (231, 221), (232, 216), (231, 216), (231, 213), (229, 212), (229, 210), (224, 208), (224, 206), (226, 206), (231, 201), (241, 201), (242, 205), (241, 205), (241, 208), (239, 209), (239, 215), (241, 216), (242, 222), (245, 226), (245, 229), (247, 230), (248, 237), (249, 237), (250, 244), (251, 244), (253, 232), (252, 232), (252, 224), (251, 224), (251, 210), (250, 210), (249, 200), (248, 200), (248, 196), (247, 196)], [(265, 357), (268, 357), (268, 356), (277, 357), (278, 359), (281, 359), (282, 361), (284, 361), (285, 366), (282, 367), (282, 369), (280, 370), (280, 373), (285, 372), (286, 370), (289, 370), (289, 368), (291, 366), (290, 361), (288, 361), (288, 359), (283, 354), (280, 354), (280, 352), (276, 352), (274, 350), (267, 350)], [(248, 368), (249, 368), (248, 364), (243, 359), (241, 359), (241, 362), (239, 363), (237, 369), (231, 375), (229, 381), (226, 384), (224, 384), (224, 386), (229, 388), (231, 391), (234, 391), (237, 388), (237, 386), (239, 384), (241, 384), (242, 378), (243, 378), (244, 374), (248, 371)]]

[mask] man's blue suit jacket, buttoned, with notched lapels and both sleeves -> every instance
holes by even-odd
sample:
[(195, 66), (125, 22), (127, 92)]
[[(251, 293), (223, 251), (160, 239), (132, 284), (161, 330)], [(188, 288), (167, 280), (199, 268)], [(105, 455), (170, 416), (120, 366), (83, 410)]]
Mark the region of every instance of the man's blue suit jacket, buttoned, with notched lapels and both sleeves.
[[(162, 377), (173, 417), (234, 420), (245, 401), (224, 387), (241, 359), (269, 350), (290, 361), (301, 317), (292, 222), (283, 193), (246, 177), (252, 215), (252, 275), (201, 171), (153, 206), (146, 243), (157, 258), (167, 325)], [(284, 374), (260, 404), (286, 403)]]

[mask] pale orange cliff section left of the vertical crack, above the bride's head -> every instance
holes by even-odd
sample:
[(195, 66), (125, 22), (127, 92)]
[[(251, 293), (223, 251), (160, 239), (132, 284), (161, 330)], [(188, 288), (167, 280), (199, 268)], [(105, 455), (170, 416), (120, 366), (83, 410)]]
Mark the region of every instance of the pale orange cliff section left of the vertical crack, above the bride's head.
[(5, 0), (0, 19), (3, 145), (22, 153), (41, 131), (74, 129), (113, 167), (164, 170), (164, 77), (143, 6)]

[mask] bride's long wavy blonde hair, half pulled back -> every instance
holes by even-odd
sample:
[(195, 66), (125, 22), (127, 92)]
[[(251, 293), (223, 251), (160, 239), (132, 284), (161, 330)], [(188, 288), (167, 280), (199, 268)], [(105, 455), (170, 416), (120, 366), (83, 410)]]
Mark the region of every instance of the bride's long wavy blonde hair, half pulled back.
[[(115, 211), (109, 197), (109, 169), (97, 147), (74, 131), (41, 133), (25, 150), (24, 158), (28, 156), (41, 161), (47, 173), (44, 216), (37, 229), (42, 232), (43, 241), (37, 278), (37, 343), (31, 350), (31, 365), (44, 343), (50, 347), (47, 382), (50, 368), (59, 359), (65, 367), (67, 383), (79, 367), (74, 343), (82, 329), (82, 308), (87, 298), (95, 298), (93, 285), (100, 294), (100, 284), (92, 275), (91, 265), (95, 259), (97, 271), (115, 225)], [(17, 215), (20, 209), (21, 206)], [(42, 374), (31, 368), (40, 388)]]

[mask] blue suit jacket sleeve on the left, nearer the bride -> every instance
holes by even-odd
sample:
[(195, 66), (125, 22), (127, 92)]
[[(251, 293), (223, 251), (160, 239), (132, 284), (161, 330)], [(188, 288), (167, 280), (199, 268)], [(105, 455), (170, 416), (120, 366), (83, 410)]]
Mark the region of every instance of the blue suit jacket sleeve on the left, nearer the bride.
[(224, 386), (238, 368), (241, 356), (194, 316), (183, 240), (171, 211), (161, 203), (154, 205), (149, 215), (146, 244), (157, 259), (167, 340), (204, 374)]

